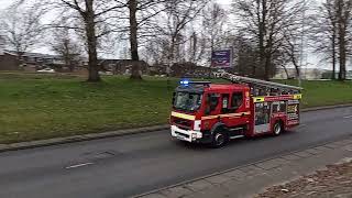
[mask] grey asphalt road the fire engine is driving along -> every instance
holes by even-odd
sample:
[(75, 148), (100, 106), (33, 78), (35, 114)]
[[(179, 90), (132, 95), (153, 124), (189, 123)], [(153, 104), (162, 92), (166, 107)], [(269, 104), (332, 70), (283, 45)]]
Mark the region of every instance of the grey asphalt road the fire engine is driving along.
[(119, 198), (352, 135), (352, 108), (302, 113), (280, 136), (211, 150), (157, 131), (0, 154), (0, 197)]

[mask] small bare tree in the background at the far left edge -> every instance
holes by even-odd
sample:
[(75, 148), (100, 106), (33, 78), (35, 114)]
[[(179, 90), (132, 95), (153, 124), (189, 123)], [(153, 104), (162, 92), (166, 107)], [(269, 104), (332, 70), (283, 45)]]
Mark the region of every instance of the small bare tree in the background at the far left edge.
[(41, 19), (45, 14), (42, 9), (33, 7), (10, 7), (0, 23), (7, 43), (16, 52), (19, 63), (25, 52), (43, 42), (45, 26)]

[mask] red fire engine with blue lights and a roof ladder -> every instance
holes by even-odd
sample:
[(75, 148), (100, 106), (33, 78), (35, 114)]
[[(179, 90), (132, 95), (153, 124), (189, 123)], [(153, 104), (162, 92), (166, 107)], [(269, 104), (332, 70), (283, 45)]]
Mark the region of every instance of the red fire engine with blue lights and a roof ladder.
[(222, 73), (233, 84), (183, 80), (173, 97), (172, 136), (221, 147), (230, 140), (279, 135), (299, 124), (302, 88)]

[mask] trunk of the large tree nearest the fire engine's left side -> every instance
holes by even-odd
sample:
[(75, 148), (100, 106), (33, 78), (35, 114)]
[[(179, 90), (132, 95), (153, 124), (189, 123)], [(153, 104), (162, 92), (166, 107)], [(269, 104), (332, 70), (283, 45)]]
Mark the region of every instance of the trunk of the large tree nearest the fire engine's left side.
[(138, 22), (136, 22), (136, 11), (138, 11), (136, 0), (130, 0), (130, 44), (131, 44), (131, 58), (132, 58), (132, 74), (131, 79), (142, 79), (141, 68), (140, 68), (140, 57), (139, 57), (139, 44), (138, 44)]

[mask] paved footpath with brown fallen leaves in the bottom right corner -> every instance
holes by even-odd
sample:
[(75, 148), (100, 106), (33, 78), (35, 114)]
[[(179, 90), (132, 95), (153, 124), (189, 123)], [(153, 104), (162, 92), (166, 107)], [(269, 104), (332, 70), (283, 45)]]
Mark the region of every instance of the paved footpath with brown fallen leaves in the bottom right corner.
[(352, 136), (135, 197), (352, 198)]

